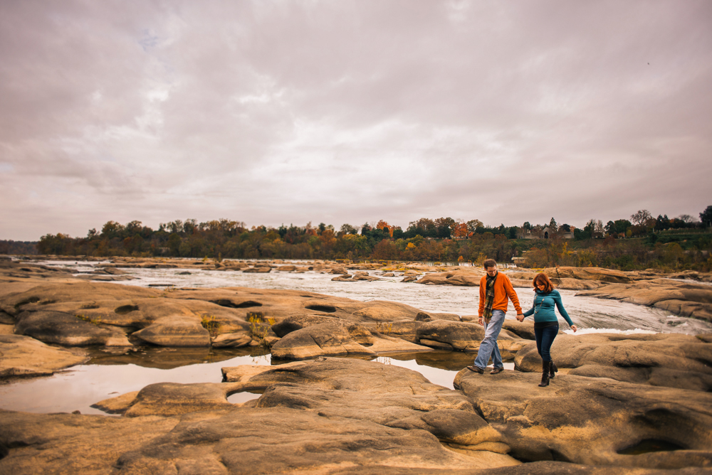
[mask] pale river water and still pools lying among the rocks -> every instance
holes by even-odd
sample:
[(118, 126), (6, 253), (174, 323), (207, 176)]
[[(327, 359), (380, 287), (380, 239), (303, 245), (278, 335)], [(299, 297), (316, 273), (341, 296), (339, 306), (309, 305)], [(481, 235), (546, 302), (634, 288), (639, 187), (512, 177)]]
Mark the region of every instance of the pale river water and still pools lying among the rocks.
[[(189, 261), (193, 262), (193, 261)], [(124, 269), (135, 280), (116, 284), (140, 287), (256, 287), (261, 289), (299, 289), (360, 301), (389, 300), (409, 304), (424, 311), (447, 312), (459, 315), (477, 314), (478, 287), (451, 287), (400, 282), (402, 277), (381, 277), (381, 272), (370, 272), (381, 277), (375, 282), (332, 282), (333, 274), (320, 272), (278, 272), (245, 274), (233, 271), (187, 269)], [(45, 265), (66, 267), (77, 273), (91, 272), (96, 262), (41, 262)], [(190, 272), (185, 274), (185, 272)], [(523, 309), (533, 302), (530, 289), (515, 289)], [(575, 297), (576, 292), (561, 290), (562, 299), (572, 320), (581, 333), (707, 333), (712, 324), (705, 321), (674, 316), (669, 312), (646, 306), (627, 304), (595, 297)], [(514, 318), (511, 308), (508, 318)], [(568, 326), (561, 319), (562, 329)], [(566, 330), (570, 333), (570, 330)], [(90, 360), (46, 378), (20, 380), (0, 386), (0, 408), (28, 412), (71, 412), (103, 414), (90, 405), (109, 397), (137, 391), (152, 383), (219, 383), (221, 368), (258, 364), (271, 365), (270, 355), (258, 348), (136, 348), (127, 354), (114, 354), (107, 349), (91, 349)], [(473, 361), (473, 355), (460, 352), (433, 351), (429, 353), (380, 355), (376, 361), (419, 371), (432, 383), (452, 388), (455, 374)], [(505, 363), (513, 369), (513, 363)], [(492, 376), (496, 378), (496, 376)], [(230, 402), (244, 402), (256, 394), (237, 393)]]

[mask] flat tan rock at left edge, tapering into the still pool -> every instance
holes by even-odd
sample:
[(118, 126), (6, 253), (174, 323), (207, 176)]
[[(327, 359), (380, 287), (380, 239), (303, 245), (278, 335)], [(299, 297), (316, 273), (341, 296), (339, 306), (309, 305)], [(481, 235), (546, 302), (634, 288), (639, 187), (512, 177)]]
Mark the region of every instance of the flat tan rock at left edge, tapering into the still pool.
[(29, 336), (0, 335), (0, 378), (51, 375), (87, 359)]

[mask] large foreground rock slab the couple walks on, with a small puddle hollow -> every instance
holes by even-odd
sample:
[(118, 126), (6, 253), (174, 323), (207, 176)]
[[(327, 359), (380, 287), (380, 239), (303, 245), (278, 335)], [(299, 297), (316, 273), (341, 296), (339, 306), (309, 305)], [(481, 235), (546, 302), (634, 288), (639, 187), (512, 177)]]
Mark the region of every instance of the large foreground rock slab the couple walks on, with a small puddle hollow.
[[(465, 369), (454, 385), (518, 459), (670, 469), (712, 464), (711, 393), (561, 374), (546, 388), (539, 381), (532, 373)], [(644, 440), (681, 450), (618, 454)]]

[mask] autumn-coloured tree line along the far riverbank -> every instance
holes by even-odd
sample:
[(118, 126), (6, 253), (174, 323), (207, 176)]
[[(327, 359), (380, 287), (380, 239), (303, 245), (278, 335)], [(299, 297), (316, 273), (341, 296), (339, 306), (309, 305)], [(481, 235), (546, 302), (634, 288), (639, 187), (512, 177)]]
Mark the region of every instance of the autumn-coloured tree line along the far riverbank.
[[(639, 210), (629, 219), (589, 220), (581, 229), (557, 225), (484, 225), (480, 220), (420, 218), (403, 230), (384, 220), (360, 226), (344, 224), (339, 230), (320, 223), (304, 226), (264, 225), (248, 228), (244, 222), (219, 219), (204, 223), (187, 219), (160, 223), (157, 230), (131, 221), (125, 225), (108, 221), (100, 231), (85, 237), (47, 234), (37, 243), (41, 254), (135, 257), (192, 257), (234, 259), (347, 259), (414, 260), (427, 262), (481, 262), (493, 258), (511, 262), (512, 257), (530, 256), (533, 267), (548, 265), (602, 265), (639, 268), (656, 265), (656, 246), (679, 247), (676, 266), (690, 252), (709, 250), (712, 242), (703, 231), (712, 225), (712, 206), (700, 220), (682, 215), (653, 218)], [(550, 239), (523, 239), (527, 232), (548, 228)], [(567, 240), (565, 233), (573, 233)], [(688, 236), (685, 233), (698, 233)], [(662, 249), (660, 252), (663, 252)], [(678, 250), (676, 249), (676, 252)], [(653, 252), (653, 254), (651, 254)], [(702, 257), (697, 264), (705, 265)], [(664, 260), (659, 265), (665, 265)], [(695, 265), (688, 262), (684, 265)]]

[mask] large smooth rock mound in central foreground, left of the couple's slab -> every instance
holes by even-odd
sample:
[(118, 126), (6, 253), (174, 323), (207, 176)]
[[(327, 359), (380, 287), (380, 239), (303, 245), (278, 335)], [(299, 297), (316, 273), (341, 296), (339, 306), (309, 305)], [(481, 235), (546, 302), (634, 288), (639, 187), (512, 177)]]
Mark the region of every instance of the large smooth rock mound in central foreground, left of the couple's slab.
[[(226, 380), (233, 379), (232, 371), (223, 368)], [(237, 373), (244, 381), (242, 371)], [(264, 390), (257, 407), (294, 407), (328, 419), (345, 417), (408, 431), (422, 429), (470, 454), (508, 451), (498, 432), (481, 420), (464, 397), (405, 368), (351, 358), (319, 358), (281, 365), (241, 384)], [(507, 460), (506, 465), (517, 464), (500, 459)]]

